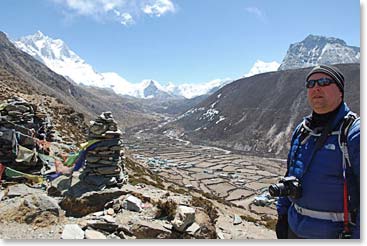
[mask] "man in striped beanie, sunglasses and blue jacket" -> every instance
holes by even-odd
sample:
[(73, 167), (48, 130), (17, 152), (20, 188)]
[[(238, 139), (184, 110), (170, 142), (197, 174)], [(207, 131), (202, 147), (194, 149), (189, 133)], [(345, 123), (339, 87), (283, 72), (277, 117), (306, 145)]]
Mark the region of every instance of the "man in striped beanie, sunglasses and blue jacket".
[(347, 147), (340, 147), (341, 126), (352, 113), (344, 102), (344, 76), (334, 66), (316, 66), (306, 88), (313, 111), (292, 136), (285, 175), (292, 178), (283, 183), (287, 196), (278, 194), (277, 237), (360, 238), (360, 121), (350, 121)]

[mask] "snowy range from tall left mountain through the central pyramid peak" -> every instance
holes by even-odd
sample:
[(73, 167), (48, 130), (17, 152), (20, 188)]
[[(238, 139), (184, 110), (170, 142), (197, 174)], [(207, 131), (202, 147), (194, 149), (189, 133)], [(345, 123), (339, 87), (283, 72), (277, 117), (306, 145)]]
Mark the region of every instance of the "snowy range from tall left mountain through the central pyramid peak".
[(185, 97), (193, 98), (220, 88), (232, 80), (213, 80), (202, 84), (169, 83), (162, 86), (154, 80), (131, 83), (115, 72), (96, 72), (91, 65), (73, 52), (61, 39), (52, 39), (42, 32), (22, 37), (13, 42), (22, 51), (30, 54), (54, 72), (86, 86), (111, 88), (117, 94), (138, 98)]

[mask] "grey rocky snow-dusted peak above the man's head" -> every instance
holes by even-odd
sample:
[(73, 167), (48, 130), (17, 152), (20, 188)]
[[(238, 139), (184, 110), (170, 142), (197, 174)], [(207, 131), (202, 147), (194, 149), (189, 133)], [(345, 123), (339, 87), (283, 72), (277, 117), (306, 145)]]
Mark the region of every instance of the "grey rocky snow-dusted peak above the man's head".
[(348, 46), (337, 38), (309, 35), (303, 41), (290, 45), (278, 70), (359, 62), (359, 47)]

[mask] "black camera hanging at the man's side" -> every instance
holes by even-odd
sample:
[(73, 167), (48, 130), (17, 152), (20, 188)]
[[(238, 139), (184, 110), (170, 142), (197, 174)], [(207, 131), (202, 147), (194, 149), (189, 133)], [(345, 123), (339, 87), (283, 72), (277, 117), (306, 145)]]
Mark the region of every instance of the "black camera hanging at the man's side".
[(269, 193), (273, 197), (289, 196), (293, 199), (298, 199), (302, 196), (302, 186), (296, 177), (285, 177), (278, 184), (270, 185)]

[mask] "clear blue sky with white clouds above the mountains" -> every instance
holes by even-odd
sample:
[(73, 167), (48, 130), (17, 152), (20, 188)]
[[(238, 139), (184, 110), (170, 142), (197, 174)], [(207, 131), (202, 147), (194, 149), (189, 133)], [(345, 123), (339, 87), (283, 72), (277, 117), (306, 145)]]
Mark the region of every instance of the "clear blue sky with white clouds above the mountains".
[(130, 82), (238, 78), (307, 35), (360, 46), (357, 0), (2, 0), (0, 31), (64, 40)]

